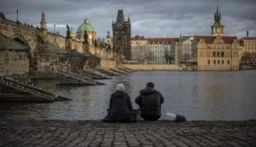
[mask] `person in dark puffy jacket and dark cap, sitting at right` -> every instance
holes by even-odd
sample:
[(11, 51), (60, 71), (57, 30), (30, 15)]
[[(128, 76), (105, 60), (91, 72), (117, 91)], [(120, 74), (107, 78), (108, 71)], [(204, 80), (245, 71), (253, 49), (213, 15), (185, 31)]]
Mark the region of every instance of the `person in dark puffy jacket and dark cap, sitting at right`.
[(146, 88), (139, 91), (139, 96), (135, 102), (142, 111), (142, 118), (149, 121), (158, 120), (161, 117), (161, 104), (164, 103), (164, 97), (154, 89), (154, 83), (146, 83)]

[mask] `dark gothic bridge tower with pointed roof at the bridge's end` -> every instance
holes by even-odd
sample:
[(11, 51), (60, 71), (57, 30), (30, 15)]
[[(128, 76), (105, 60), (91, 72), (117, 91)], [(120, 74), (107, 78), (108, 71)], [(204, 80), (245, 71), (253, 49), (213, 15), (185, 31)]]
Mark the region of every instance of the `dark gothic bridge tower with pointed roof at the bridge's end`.
[[(112, 23), (114, 59), (131, 59), (131, 22), (124, 20), (123, 10), (118, 10), (117, 20)], [(125, 59), (124, 59), (125, 58)]]

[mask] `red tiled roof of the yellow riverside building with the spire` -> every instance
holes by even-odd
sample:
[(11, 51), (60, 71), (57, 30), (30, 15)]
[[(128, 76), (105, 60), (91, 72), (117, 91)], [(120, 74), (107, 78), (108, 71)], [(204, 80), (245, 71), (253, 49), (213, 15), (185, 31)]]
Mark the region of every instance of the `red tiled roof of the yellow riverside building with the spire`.
[[(199, 41), (200, 39), (203, 39), (207, 44), (213, 43), (216, 36), (196, 36), (196, 40)], [(222, 39), (226, 44), (231, 44), (235, 39), (237, 39), (236, 36), (223, 36)]]

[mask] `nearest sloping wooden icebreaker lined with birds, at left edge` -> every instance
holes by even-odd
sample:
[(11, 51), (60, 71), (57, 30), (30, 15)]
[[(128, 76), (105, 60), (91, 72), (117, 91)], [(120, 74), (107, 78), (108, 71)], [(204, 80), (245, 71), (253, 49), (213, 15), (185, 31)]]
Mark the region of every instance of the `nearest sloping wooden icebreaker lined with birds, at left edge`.
[(8, 76), (0, 76), (0, 101), (55, 102), (60, 100), (71, 99), (37, 88), (33, 83), (23, 83)]

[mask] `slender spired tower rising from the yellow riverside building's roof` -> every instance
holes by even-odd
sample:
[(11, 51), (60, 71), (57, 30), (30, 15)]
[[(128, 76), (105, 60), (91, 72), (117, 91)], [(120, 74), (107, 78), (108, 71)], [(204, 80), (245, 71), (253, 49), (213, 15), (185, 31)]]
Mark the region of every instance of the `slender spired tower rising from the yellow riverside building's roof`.
[(224, 33), (224, 25), (220, 23), (221, 20), (221, 14), (217, 5), (216, 12), (214, 14), (214, 24), (211, 26), (211, 34), (212, 36), (223, 36)]

